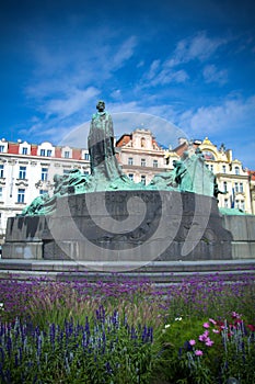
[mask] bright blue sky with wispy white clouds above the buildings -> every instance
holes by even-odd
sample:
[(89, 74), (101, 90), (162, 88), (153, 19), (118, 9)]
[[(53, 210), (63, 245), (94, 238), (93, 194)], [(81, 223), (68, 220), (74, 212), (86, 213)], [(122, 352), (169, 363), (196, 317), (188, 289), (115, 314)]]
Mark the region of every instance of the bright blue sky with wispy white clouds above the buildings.
[(175, 128), (255, 169), (254, 1), (9, 0), (0, 34), (1, 137), (84, 146), (103, 99), (117, 137)]

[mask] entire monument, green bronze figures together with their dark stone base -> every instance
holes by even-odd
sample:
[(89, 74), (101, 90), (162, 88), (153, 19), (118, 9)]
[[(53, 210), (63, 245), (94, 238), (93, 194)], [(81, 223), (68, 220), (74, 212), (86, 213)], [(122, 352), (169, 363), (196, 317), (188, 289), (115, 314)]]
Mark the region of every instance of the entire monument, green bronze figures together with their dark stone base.
[(91, 174), (54, 178), (54, 194), (36, 197), (8, 221), (3, 258), (134, 262), (231, 259), (215, 177), (202, 155), (186, 153), (149, 185), (121, 171), (113, 120), (98, 101), (88, 137)]

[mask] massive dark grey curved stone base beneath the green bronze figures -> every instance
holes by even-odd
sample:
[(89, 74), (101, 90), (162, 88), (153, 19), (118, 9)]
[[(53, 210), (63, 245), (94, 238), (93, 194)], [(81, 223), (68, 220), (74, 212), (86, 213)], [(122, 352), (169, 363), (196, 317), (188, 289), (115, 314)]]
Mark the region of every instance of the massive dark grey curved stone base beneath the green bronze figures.
[(48, 216), (8, 221), (3, 258), (78, 261), (231, 259), (232, 235), (215, 197), (114, 191), (57, 200)]

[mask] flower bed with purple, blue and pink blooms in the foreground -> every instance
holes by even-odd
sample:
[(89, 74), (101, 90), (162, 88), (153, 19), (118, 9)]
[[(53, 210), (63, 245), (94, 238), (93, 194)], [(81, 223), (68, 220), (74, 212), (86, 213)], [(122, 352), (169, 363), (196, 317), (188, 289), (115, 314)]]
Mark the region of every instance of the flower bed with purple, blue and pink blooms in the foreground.
[(0, 383), (248, 384), (254, 334), (250, 274), (0, 281)]

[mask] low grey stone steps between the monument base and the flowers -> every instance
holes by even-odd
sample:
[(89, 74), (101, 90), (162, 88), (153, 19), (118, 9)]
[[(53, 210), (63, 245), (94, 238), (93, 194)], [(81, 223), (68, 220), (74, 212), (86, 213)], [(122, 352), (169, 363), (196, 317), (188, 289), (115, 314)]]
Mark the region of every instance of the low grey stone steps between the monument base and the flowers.
[(48, 278), (58, 281), (80, 280), (116, 281), (117, 279), (140, 279), (157, 284), (181, 282), (195, 275), (213, 280), (216, 274), (228, 281), (255, 275), (255, 259), (204, 260), (204, 261), (154, 261), (146, 266), (139, 262), (76, 262), (49, 260), (0, 259), (0, 279), (27, 280)]

